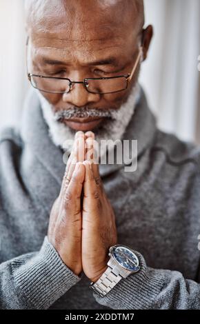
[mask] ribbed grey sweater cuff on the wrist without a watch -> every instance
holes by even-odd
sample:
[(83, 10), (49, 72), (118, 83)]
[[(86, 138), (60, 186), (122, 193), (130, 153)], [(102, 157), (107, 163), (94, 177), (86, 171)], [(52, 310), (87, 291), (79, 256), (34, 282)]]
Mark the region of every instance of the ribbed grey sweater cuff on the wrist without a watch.
[(38, 254), (23, 265), (19, 263), (21, 260), (12, 262), (16, 287), (32, 308), (48, 308), (81, 280), (61, 261), (47, 237)]

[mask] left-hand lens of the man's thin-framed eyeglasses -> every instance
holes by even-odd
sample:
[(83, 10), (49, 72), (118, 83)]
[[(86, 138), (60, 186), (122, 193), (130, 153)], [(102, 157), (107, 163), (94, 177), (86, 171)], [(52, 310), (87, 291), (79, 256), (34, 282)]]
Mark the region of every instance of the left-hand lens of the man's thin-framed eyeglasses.
[(51, 79), (44, 77), (30, 78), (32, 86), (44, 92), (63, 93), (70, 91), (70, 83), (68, 80)]

